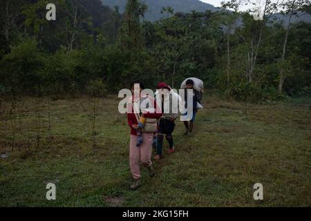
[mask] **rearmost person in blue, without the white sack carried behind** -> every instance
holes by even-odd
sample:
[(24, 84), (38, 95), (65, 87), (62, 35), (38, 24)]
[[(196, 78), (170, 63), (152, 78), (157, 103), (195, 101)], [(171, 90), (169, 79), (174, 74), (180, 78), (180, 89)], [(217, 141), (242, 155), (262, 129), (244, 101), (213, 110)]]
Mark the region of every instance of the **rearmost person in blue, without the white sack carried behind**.
[[(187, 88), (186, 89), (194, 89), (194, 81), (191, 79), (188, 79), (186, 81)], [(198, 113), (198, 95), (196, 90), (194, 90), (193, 93), (193, 99), (192, 99), (192, 110), (188, 110), (188, 96), (187, 96), (187, 90), (185, 90), (185, 108), (187, 112), (184, 115), (187, 115), (190, 111), (192, 111), (192, 117), (188, 121), (184, 121), (185, 124), (185, 135), (191, 136), (192, 130), (194, 129), (194, 120), (196, 119), (196, 113)]]

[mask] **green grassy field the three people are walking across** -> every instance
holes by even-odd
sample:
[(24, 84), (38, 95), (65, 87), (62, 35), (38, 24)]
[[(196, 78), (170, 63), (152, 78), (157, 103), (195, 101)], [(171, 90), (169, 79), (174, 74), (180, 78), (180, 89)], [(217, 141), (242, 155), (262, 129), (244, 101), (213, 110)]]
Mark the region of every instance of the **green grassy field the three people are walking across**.
[[(98, 100), (94, 130), (86, 97), (23, 98), (12, 113), (4, 102), (0, 206), (311, 206), (310, 104), (252, 104), (243, 116), (242, 104), (207, 95), (193, 137), (177, 122), (176, 153), (165, 141), (156, 176), (142, 169), (142, 186), (129, 191), (129, 127), (118, 102)], [(57, 200), (46, 200), (48, 182)]]

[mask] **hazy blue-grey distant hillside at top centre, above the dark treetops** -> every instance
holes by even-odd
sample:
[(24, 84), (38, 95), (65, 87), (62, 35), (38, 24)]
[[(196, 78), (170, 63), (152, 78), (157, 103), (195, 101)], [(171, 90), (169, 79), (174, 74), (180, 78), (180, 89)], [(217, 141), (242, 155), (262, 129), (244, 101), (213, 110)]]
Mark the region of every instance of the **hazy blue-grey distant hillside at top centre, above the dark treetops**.
[[(126, 0), (101, 0), (104, 6), (110, 6), (114, 8), (115, 6), (120, 7), (120, 12), (124, 12), (126, 5)], [(144, 1), (148, 10), (145, 15), (147, 21), (157, 21), (164, 17), (161, 14), (162, 7), (171, 6), (174, 12), (191, 12), (196, 10), (197, 12), (205, 12), (206, 10), (216, 11), (218, 8), (204, 3), (199, 0), (145, 0)]]

